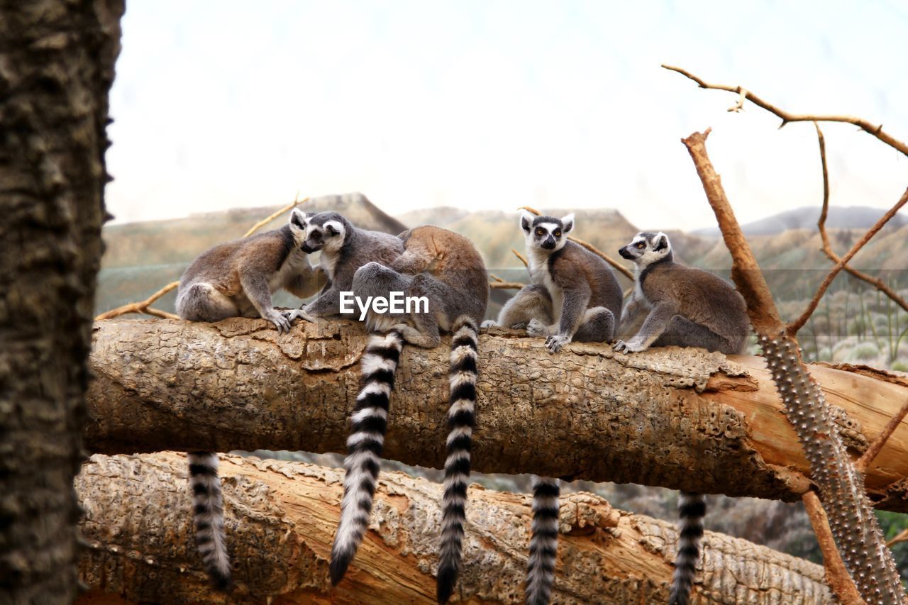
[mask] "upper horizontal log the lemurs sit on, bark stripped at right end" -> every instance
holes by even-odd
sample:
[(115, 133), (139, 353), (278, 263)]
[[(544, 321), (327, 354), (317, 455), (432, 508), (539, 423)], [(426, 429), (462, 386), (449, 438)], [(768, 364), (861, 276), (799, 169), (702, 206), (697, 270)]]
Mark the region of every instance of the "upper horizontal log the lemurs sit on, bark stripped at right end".
[[(794, 501), (807, 462), (756, 357), (665, 349), (617, 354), (496, 330), (479, 342), (474, 468), (635, 482)], [(364, 335), (320, 322), (279, 335), (262, 320), (95, 323), (89, 390), (93, 451), (344, 451)], [(406, 347), (391, 401), (385, 455), (444, 461), (447, 344)], [(858, 455), (908, 395), (908, 385), (814, 366), (843, 409), (839, 429)], [(885, 378), (883, 376), (883, 378)], [(908, 511), (908, 430), (867, 471), (877, 504)]]

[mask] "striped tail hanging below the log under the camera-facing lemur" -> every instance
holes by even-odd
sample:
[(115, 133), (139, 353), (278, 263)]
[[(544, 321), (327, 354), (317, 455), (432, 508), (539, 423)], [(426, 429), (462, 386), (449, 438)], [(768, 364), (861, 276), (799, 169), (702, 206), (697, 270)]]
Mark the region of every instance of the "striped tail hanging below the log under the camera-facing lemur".
[(529, 539), (527, 568), (527, 605), (547, 605), (555, 581), (555, 556), (558, 552), (557, 479), (533, 480), (533, 531)]

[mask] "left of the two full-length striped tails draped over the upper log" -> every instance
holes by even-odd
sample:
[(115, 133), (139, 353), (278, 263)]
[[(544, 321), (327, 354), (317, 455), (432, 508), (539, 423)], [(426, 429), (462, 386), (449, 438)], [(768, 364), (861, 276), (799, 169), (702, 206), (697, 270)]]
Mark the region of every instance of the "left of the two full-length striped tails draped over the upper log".
[(372, 334), (362, 355), (363, 385), (350, 418), (344, 460), (347, 474), (343, 480), (341, 522), (331, 547), (332, 584), (343, 579), (369, 527), (381, 448), (388, 428), (388, 404), (402, 348), (400, 332)]

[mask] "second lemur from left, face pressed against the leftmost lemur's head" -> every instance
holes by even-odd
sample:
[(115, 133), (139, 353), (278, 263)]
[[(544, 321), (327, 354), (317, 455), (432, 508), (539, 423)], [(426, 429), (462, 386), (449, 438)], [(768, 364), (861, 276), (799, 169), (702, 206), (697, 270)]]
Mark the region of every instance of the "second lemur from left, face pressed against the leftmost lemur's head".
[(318, 298), (305, 307), (284, 312), (290, 322), (297, 318), (311, 321), (313, 317), (341, 315), (341, 292), (352, 289), (357, 269), (370, 261), (390, 263), (403, 253), (399, 237), (359, 229), (335, 212), (307, 216), (305, 239), (303, 251), (310, 254), (321, 251), (320, 266), (328, 283)]

